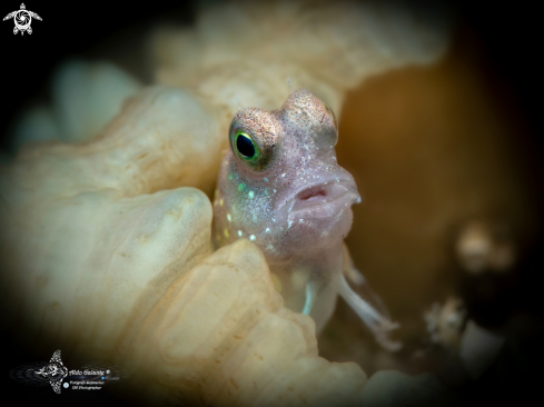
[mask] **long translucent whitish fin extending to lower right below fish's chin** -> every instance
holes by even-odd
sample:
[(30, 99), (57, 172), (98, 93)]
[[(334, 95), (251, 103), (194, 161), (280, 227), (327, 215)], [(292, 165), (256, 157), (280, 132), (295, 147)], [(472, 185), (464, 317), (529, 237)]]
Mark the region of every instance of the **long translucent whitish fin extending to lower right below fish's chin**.
[[(360, 298), (352, 287), (349, 287), (343, 274), (338, 275), (337, 290), (340, 297), (344, 298), (355, 312), (357, 312), (366, 326), (370, 328), (379, 345), (389, 351), (396, 351), (402, 348), (402, 343), (392, 341), (387, 337), (388, 332), (398, 328), (399, 325), (397, 322), (392, 322), (388, 315), (379, 314), (373, 306), (370, 306), (370, 304)], [(376, 296), (374, 292), (373, 295)]]

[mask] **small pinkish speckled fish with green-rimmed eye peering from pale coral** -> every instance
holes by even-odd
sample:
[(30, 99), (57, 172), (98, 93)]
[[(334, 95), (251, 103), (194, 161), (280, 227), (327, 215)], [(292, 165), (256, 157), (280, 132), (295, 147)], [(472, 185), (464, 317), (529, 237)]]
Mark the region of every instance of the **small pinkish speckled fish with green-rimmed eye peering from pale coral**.
[(352, 307), (360, 308), (355, 297), (366, 305), (359, 310), (365, 317), (358, 314), (376, 332), (388, 318), (360, 299), (344, 276), (364, 281), (344, 249), (352, 205), (360, 197), (353, 176), (336, 161), (337, 140), (333, 111), (305, 89), (276, 110), (239, 110), (218, 176), (212, 240), (216, 247), (240, 238), (256, 244), (285, 306), (310, 315), (317, 331), (340, 294)]

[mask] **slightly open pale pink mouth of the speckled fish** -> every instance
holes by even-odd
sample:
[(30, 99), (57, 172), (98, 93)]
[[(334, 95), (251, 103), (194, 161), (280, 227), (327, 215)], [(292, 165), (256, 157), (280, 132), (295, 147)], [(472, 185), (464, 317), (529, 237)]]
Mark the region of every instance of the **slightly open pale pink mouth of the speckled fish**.
[(288, 205), (288, 217), (310, 215), (311, 217), (330, 217), (343, 207), (359, 204), (360, 196), (355, 182), (350, 179), (332, 179), (311, 185), (297, 193)]

